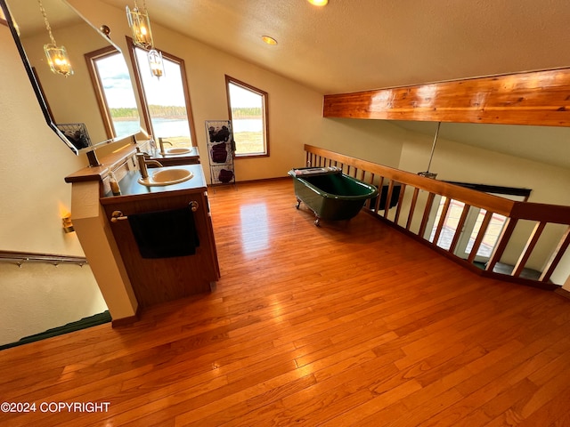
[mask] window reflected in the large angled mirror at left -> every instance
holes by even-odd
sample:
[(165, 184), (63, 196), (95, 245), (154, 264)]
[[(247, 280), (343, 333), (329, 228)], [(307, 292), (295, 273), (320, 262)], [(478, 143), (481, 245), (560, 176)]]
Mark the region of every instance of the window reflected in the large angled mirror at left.
[(137, 133), (141, 127), (131, 77), (123, 54), (113, 46), (85, 53), (107, 138)]

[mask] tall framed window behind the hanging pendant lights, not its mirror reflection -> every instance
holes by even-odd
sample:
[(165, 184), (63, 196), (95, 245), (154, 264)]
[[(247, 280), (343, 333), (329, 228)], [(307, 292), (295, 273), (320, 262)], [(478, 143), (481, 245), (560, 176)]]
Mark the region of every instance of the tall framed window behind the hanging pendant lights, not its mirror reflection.
[(147, 51), (135, 47), (129, 37), (127, 41), (147, 129), (155, 140), (163, 138), (174, 147), (195, 145), (196, 136), (184, 60), (161, 52), (164, 76), (153, 77)]

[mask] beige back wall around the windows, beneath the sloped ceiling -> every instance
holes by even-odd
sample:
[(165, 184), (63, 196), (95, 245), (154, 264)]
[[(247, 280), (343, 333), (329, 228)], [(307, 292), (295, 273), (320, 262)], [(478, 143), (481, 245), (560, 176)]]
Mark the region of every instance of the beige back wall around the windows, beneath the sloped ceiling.
[[(96, 1), (71, 0), (69, 3), (91, 20), (95, 27), (103, 23), (108, 25), (113, 42), (127, 52), (125, 35), (130, 35), (130, 29), (123, 9)], [(401, 144), (384, 134), (386, 129), (390, 133), (398, 133), (395, 128), (377, 121), (323, 119), (322, 93), (156, 23), (152, 24), (152, 34), (157, 49), (184, 60), (198, 147), (208, 182), (210, 175), (204, 122), (228, 118), (225, 75), (268, 93), (270, 157), (236, 159), (237, 181), (287, 176), (290, 168), (305, 164), (304, 144), (345, 149), (344, 152), (348, 151), (346, 154), (355, 157), (376, 153), (373, 161), (397, 165)]]

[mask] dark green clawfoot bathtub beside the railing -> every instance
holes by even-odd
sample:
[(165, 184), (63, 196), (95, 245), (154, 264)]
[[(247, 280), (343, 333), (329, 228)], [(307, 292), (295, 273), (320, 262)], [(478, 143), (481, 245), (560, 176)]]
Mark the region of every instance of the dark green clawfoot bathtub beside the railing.
[(315, 225), (321, 220), (350, 220), (364, 202), (378, 195), (378, 189), (342, 173), (335, 167), (291, 169), (297, 209), (301, 202), (314, 212)]

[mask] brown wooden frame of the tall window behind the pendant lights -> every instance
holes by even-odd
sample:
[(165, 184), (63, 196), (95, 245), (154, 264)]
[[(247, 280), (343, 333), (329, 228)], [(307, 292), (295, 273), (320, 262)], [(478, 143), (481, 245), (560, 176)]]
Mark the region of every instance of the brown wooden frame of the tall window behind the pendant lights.
[[(139, 99), (141, 101), (142, 120), (144, 120), (144, 125), (145, 125), (146, 129), (148, 129), (149, 133), (152, 133), (151, 113), (149, 112), (149, 108), (148, 108), (149, 104), (147, 103), (146, 96), (144, 94), (144, 89), (142, 86), (142, 79), (141, 79), (141, 72), (139, 69), (139, 63), (136, 60), (136, 54), (134, 52), (134, 49), (137, 49), (137, 46), (135, 46), (133, 44), (133, 39), (129, 36), (126, 36), (126, 44), (128, 46), (128, 53), (129, 53), (129, 57), (131, 59), (131, 65), (133, 67), (134, 84), (136, 85), (136, 91), (137, 91), (137, 93), (139, 95)], [(142, 49), (140, 47), (138, 47), (138, 49), (141, 49), (142, 51), (144, 51), (144, 49)], [(148, 51), (145, 51), (145, 52), (148, 52)], [(168, 53), (168, 52), (160, 51), (160, 53), (162, 54), (163, 59), (167, 59), (167, 60), (170, 60), (172, 62), (175, 62), (180, 67), (180, 77), (181, 77), (182, 86), (183, 86), (184, 102), (186, 104), (186, 116), (188, 117), (188, 125), (190, 126), (191, 144), (192, 144), (192, 147), (197, 147), (198, 146), (198, 140), (196, 139), (196, 126), (194, 125), (194, 116), (192, 114), (190, 91), (188, 89), (188, 82), (186, 79), (187, 78), (186, 77), (186, 67), (184, 66), (184, 60), (182, 58), (178, 58), (177, 56), (175, 56), (171, 53)], [(154, 134), (152, 136), (156, 137)]]

